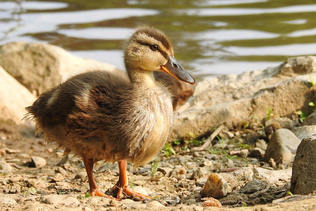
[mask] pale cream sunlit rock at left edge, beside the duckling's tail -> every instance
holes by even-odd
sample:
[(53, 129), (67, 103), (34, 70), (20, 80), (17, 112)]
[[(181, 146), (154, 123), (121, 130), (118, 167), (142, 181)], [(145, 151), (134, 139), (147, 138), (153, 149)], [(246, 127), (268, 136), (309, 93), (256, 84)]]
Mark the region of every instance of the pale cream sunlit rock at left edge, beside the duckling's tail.
[(35, 101), (35, 97), (1, 66), (0, 93), (0, 120), (13, 121), (17, 125), (25, 124), (26, 119), (21, 121), (26, 114), (25, 107), (31, 105)]

